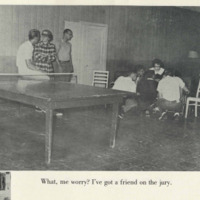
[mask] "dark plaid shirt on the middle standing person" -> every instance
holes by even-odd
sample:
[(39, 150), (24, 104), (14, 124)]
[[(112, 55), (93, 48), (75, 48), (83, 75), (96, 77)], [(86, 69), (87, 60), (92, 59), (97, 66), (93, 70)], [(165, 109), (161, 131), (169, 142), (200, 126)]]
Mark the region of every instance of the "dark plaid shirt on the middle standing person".
[(54, 72), (53, 64), (56, 60), (56, 48), (52, 43), (39, 42), (34, 46), (33, 62), (43, 72)]

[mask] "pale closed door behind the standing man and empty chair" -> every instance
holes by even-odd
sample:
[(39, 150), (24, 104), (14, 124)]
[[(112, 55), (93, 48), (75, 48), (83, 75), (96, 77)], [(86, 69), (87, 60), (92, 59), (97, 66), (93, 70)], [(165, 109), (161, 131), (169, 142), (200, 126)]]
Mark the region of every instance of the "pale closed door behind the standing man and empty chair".
[(93, 71), (106, 70), (107, 25), (65, 22), (73, 31), (72, 59), (78, 83), (92, 85)]

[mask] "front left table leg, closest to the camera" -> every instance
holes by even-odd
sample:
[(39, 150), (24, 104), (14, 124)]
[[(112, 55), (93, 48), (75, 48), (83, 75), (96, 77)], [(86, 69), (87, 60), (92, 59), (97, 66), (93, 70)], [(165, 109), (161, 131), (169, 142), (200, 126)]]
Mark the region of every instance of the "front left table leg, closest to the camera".
[(52, 128), (53, 128), (53, 110), (46, 111), (46, 133), (45, 133), (45, 162), (51, 162), (52, 147)]

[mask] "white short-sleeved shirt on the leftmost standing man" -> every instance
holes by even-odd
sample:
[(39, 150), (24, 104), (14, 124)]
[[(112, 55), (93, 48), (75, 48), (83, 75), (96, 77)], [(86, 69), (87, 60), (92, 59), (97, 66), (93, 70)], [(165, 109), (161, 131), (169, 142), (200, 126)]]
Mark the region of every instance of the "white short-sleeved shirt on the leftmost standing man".
[(30, 41), (26, 41), (19, 47), (16, 57), (16, 65), (18, 67), (19, 74), (31, 74), (34, 71), (29, 69), (26, 64), (26, 60), (32, 60), (33, 45)]

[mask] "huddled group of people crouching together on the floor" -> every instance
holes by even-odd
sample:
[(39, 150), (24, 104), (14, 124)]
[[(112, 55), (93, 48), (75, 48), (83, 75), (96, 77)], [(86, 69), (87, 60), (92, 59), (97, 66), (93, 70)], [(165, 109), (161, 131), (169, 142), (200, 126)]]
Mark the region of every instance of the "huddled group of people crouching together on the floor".
[(166, 118), (167, 113), (179, 119), (182, 94), (189, 94), (183, 80), (175, 76), (173, 69), (164, 68), (159, 59), (154, 59), (152, 68), (146, 71), (139, 66), (126, 76), (118, 77), (113, 89), (130, 92), (121, 107), (120, 118), (129, 110), (139, 108), (146, 116), (158, 116), (160, 120)]

